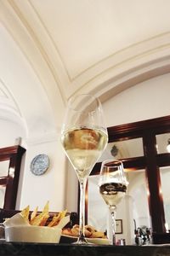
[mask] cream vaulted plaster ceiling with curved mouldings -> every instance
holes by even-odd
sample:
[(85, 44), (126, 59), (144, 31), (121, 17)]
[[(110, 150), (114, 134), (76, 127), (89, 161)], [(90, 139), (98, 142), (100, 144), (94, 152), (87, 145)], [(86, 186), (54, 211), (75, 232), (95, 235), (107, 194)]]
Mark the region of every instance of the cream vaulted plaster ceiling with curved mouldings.
[(37, 122), (54, 131), (78, 91), (105, 101), (168, 73), (169, 9), (169, 0), (0, 0), (0, 106), (28, 134)]

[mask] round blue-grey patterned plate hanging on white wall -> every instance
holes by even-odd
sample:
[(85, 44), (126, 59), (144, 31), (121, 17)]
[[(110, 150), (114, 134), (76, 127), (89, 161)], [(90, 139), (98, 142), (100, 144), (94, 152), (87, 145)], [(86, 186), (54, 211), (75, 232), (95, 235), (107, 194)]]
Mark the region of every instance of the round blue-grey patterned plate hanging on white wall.
[(47, 154), (37, 154), (31, 160), (31, 172), (35, 175), (42, 175), (48, 170), (49, 158)]

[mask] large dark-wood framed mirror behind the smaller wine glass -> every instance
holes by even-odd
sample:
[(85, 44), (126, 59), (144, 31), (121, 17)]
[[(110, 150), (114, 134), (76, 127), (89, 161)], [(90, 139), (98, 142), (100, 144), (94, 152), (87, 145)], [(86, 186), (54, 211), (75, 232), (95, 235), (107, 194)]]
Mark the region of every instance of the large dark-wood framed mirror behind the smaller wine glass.
[[(103, 211), (103, 206), (100, 204), (101, 202), (97, 202), (98, 200), (95, 201), (97, 195), (94, 195), (94, 190), (93, 192), (91, 191), (91, 187), (96, 186), (101, 161), (117, 158), (122, 160), (129, 181), (127, 197), (130, 207), (127, 208), (130, 210), (126, 213), (126, 218), (128, 222), (130, 219), (130, 228), (127, 230), (126, 220), (122, 222), (124, 232), (127, 232), (128, 236), (131, 234), (131, 241), (128, 241), (129, 244), (133, 244), (132, 237), (134, 237), (134, 232), (141, 226), (145, 226), (147, 230), (151, 228), (155, 243), (158, 240), (159, 242), (165, 241), (164, 235), (167, 234), (166, 224), (169, 224), (169, 217), (167, 216), (167, 192), (164, 192), (164, 195), (162, 195), (162, 191), (163, 183), (165, 183), (165, 178), (163, 177), (167, 175), (165, 167), (170, 166), (170, 154), (167, 153), (166, 149), (167, 138), (170, 134), (170, 116), (109, 127), (108, 133), (109, 144), (105, 150), (105, 154), (103, 154), (100, 162), (94, 166), (91, 172), (91, 176), (93, 177), (95, 175), (96, 177), (94, 180), (91, 180), (91, 177), (89, 177), (86, 220), (92, 221), (93, 223), (94, 217), (91, 215), (93, 214), (92, 207), (94, 208), (93, 212), (98, 212), (95, 212), (94, 216), (99, 214), (99, 209), (100, 212)], [(164, 144), (164, 146), (162, 144)], [(139, 182), (139, 187), (133, 186), (134, 183), (137, 184)], [(95, 190), (97, 191), (98, 189), (95, 188)], [(90, 199), (90, 195), (93, 195), (93, 200)], [(89, 206), (88, 198), (90, 200)], [(144, 200), (142, 209), (141, 204), (139, 204), (141, 199)], [(129, 201), (131, 200), (132, 202), (130, 203)], [(98, 210), (94, 207), (96, 205), (100, 205), (100, 208), (98, 206)], [(105, 215), (106, 213), (102, 214)], [(129, 214), (133, 216), (133, 219)], [(90, 216), (89, 218), (88, 215)], [(118, 216), (118, 213), (117, 218), (122, 219), (121, 216)], [(100, 223), (100, 227), (102, 228), (103, 226), (104, 225)], [(124, 236), (124, 234), (122, 235)]]

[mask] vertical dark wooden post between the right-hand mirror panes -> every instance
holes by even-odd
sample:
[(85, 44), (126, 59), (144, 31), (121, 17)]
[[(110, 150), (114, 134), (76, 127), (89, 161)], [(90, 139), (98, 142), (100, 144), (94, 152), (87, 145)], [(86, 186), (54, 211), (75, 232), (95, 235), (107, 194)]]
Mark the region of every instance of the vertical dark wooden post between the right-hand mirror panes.
[(156, 163), (156, 136), (152, 131), (144, 134), (144, 155), (146, 158), (146, 180), (148, 184), (148, 201), (153, 233), (164, 233), (165, 212), (161, 194), (161, 177)]

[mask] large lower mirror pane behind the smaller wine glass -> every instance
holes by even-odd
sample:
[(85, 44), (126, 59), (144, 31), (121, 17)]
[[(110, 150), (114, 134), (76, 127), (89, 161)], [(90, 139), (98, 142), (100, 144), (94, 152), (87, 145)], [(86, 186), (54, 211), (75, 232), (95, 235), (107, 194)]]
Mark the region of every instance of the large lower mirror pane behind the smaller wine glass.
[[(116, 241), (125, 239), (126, 244), (135, 244), (136, 230), (150, 230), (150, 213), (147, 200), (145, 171), (127, 172), (127, 194), (117, 206), (116, 219), (122, 219), (122, 232), (116, 234)], [(88, 224), (111, 234), (111, 219), (98, 188), (99, 175), (88, 177)], [(150, 241), (141, 241), (149, 243)]]

